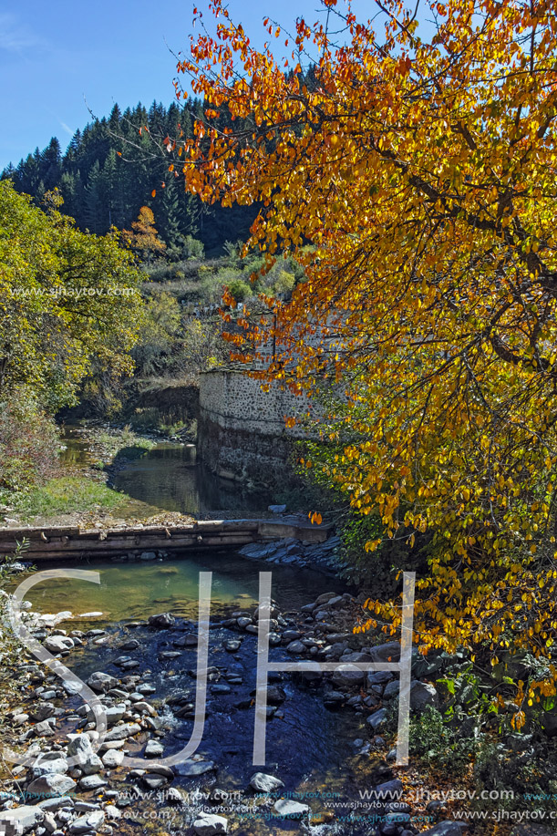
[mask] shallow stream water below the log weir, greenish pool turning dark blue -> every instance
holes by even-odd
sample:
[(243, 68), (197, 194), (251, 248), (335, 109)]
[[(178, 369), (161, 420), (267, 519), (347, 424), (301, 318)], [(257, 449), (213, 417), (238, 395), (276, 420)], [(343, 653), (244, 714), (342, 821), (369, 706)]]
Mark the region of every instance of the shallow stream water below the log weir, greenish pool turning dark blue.
[[(45, 568), (54, 568), (55, 565), (45, 564)], [(209, 664), (221, 671), (222, 683), (226, 682), (226, 674), (241, 678), (241, 682), (231, 684), (228, 694), (214, 693), (211, 684), (209, 686), (207, 719), (198, 751), (218, 766), (216, 786), (225, 790), (244, 789), (253, 772), (266, 771), (280, 777), (285, 791), (297, 794), (297, 800), (309, 803), (313, 813), (318, 815), (324, 810), (332, 810), (335, 805), (358, 799), (359, 790), (373, 785), (371, 771), (374, 759), (357, 756), (352, 744), (355, 738), (367, 737), (365, 717), (356, 715), (351, 709), (340, 712), (328, 710), (318, 689), (288, 675), (280, 675), (281, 686), (287, 695), (280, 707), (283, 717), (273, 717), (267, 723), (266, 763), (264, 766), (253, 765), (254, 709), (249, 703), (255, 687), (257, 637), (234, 632), (221, 622), (233, 611), (253, 610), (257, 604), (262, 564), (247, 561), (234, 553), (188, 553), (182, 560), (132, 563), (89, 561), (80, 562), (79, 568), (98, 571), (100, 586), (71, 579), (53, 579), (33, 589), (27, 599), (36, 611), (42, 613), (55, 613), (62, 609), (70, 609), (77, 615), (102, 611), (102, 615), (95, 618), (77, 617), (62, 624), (67, 631), (91, 626), (108, 631), (108, 644), (77, 648), (65, 662), (85, 680), (95, 670), (117, 677), (126, 676), (113, 664), (114, 660), (122, 654), (137, 659), (139, 666), (129, 673), (140, 674), (156, 686), (156, 693), (150, 701), (159, 706), (160, 717), (165, 724), (164, 737), (160, 738), (165, 755), (180, 750), (191, 735), (192, 720), (174, 717), (170, 708), (162, 707), (161, 702), (165, 697), (184, 693), (191, 696), (191, 702), (195, 700), (193, 672), (196, 647), (178, 648), (173, 642), (183, 635), (184, 630), (196, 632), (199, 572), (211, 571)], [(318, 594), (331, 590), (342, 593), (343, 584), (311, 571), (273, 567), (273, 598), (286, 618), (289, 611), (297, 611), (300, 606), (315, 600)], [(150, 614), (163, 611), (178, 616), (175, 628), (152, 630), (145, 624), (135, 628), (127, 626), (130, 621), (144, 621)], [(119, 645), (131, 637), (139, 639), (139, 648), (135, 651), (120, 650)], [(223, 647), (223, 642), (231, 638), (242, 639), (240, 651), (233, 655)], [(163, 650), (177, 649), (181, 650), (178, 658), (167, 661), (158, 658)], [(271, 649), (273, 661), (287, 657), (284, 647)], [(248, 707), (237, 706), (242, 700)], [(140, 756), (142, 745), (138, 744), (130, 752)], [(173, 786), (190, 791), (195, 788), (209, 790), (215, 786), (215, 775), (210, 773), (199, 779), (178, 777)], [(301, 798), (302, 794), (306, 794), (305, 800)], [(337, 815), (348, 811), (336, 809)], [(292, 828), (299, 830), (299, 827), (294, 823), (288, 825), (278, 821), (250, 821), (249, 824), (246, 821), (240, 832), (263, 836), (271, 832), (288, 832)], [(329, 832), (328, 826), (325, 832)], [(363, 836), (370, 829), (367, 823), (344, 823), (335, 832)]]

